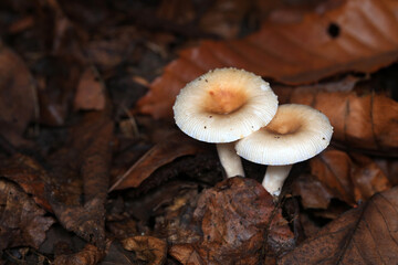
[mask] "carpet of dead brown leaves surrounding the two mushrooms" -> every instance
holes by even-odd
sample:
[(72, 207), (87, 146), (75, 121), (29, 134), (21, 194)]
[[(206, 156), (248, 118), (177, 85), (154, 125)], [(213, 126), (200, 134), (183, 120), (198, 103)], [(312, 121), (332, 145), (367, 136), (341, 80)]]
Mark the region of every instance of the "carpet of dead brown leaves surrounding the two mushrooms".
[[(0, 17), (2, 106), (15, 103), (0, 115), (0, 263), (397, 258), (395, 1), (19, 2)], [(216, 149), (169, 123), (185, 83), (220, 66), (335, 127), (279, 201), (264, 167), (222, 181)]]

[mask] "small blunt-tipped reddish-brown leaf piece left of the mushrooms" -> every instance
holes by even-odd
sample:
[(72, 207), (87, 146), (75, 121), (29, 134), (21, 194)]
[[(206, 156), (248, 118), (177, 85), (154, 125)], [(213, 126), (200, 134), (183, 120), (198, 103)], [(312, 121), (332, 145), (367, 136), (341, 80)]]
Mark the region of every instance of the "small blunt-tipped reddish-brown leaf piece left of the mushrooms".
[(102, 110), (105, 107), (105, 88), (93, 68), (86, 68), (78, 82), (74, 98), (75, 109)]

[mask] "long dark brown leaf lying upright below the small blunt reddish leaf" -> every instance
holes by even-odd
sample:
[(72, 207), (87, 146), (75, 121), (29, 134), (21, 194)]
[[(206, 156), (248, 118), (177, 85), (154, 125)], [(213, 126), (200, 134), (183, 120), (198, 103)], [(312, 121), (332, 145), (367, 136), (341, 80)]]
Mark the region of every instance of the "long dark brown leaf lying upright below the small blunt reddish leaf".
[(55, 215), (67, 230), (101, 248), (105, 244), (104, 204), (112, 140), (109, 117), (105, 113), (90, 113), (73, 127), (65, 147), (49, 161), (53, 169), (46, 192)]

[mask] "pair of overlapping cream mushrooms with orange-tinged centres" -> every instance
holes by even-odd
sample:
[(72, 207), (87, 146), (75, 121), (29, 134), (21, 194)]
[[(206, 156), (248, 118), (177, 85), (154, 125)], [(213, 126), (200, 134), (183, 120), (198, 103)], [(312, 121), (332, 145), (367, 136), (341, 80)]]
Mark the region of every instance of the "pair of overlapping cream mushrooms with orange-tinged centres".
[(269, 83), (230, 67), (209, 71), (188, 83), (172, 108), (185, 134), (217, 144), (228, 178), (244, 177), (240, 157), (268, 165), (262, 184), (279, 197), (292, 166), (323, 151), (333, 127), (310, 106), (277, 104)]

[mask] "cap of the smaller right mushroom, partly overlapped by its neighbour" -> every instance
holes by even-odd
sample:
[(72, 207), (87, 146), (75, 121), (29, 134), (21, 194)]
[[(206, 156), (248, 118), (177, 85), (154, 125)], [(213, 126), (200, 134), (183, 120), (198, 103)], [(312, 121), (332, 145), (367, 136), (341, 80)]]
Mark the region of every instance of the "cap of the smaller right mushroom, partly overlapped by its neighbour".
[(333, 127), (328, 118), (306, 105), (285, 104), (271, 123), (239, 140), (239, 156), (252, 162), (282, 166), (310, 159), (331, 142)]

